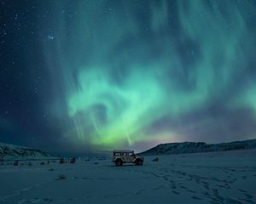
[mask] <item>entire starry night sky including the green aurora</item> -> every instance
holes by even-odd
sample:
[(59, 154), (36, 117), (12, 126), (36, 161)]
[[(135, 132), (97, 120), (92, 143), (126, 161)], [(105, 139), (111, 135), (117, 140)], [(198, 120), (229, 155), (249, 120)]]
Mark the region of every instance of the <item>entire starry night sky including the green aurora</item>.
[(90, 152), (256, 138), (255, 1), (0, 8), (0, 141)]

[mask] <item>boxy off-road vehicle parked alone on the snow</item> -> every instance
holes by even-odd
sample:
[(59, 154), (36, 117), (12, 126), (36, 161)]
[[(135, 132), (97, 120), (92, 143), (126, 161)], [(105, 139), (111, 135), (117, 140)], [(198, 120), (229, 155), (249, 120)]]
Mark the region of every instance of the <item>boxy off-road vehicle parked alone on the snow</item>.
[(135, 155), (133, 150), (113, 150), (112, 161), (116, 166), (122, 166), (123, 163), (143, 165), (143, 157)]

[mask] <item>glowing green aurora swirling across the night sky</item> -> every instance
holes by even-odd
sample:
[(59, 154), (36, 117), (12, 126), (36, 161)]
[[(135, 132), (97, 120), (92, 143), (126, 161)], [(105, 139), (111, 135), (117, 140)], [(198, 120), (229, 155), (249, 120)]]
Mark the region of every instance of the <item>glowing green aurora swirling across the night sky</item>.
[(47, 110), (60, 141), (142, 150), (255, 138), (253, 1), (54, 1), (49, 7), (54, 39), (42, 49), (55, 97)]

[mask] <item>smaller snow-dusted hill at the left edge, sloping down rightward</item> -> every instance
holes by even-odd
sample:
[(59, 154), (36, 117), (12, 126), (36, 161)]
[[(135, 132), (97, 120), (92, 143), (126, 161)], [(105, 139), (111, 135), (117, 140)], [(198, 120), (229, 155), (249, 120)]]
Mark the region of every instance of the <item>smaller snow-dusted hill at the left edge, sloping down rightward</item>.
[(41, 150), (17, 146), (13, 144), (0, 143), (0, 160), (27, 160), (27, 159), (46, 159), (55, 156)]

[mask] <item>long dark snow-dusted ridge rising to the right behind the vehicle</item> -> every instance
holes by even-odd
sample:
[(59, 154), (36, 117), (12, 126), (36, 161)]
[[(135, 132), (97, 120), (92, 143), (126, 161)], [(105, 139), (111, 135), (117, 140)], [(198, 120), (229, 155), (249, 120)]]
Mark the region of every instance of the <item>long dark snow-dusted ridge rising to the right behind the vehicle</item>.
[(159, 144), (150, 150), (143, 151), (141, 155), (184, 154), (196, 152), (249, 149), (256, 149), (256, 139), (220, 144), (206, 144), (204, 142), (166, 143)]

